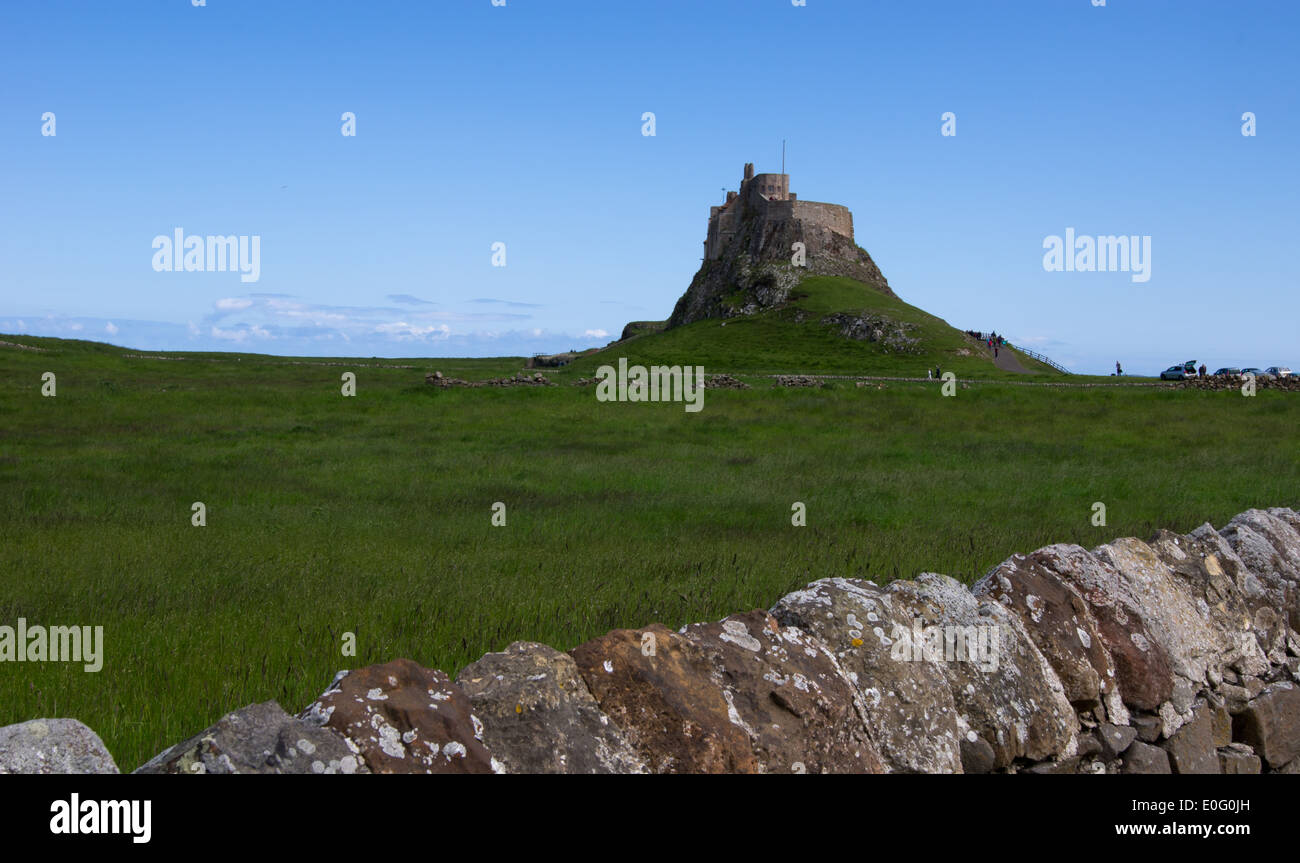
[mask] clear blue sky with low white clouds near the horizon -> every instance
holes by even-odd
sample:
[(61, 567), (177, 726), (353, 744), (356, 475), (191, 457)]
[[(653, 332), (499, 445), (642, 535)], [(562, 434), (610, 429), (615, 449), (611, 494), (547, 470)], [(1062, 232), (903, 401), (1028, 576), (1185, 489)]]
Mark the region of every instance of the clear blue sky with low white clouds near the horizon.
[[(0, 333), (603, 344), (668, 316), (784, 138), (792, 190), (954, 326), (1080, 372), (1300, 367), (1297, 36), (1280, 0), (8, 3)], [(259, 279), (155, 272), (178, 227), (260, 237)], [(1150, 237), (1149, 281), (1044, 270), (1067, 227)]]

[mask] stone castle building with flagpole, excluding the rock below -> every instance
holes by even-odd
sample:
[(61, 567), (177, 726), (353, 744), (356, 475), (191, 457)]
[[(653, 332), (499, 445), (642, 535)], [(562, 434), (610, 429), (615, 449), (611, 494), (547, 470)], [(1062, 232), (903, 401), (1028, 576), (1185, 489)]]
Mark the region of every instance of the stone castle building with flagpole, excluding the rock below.
[(725, 203), (708, 209), (705, 260), (720, 257), (741, 224), (750, 217), (760, 222), (760, 237), (770, 234), (770, 226), (797, 221), (811, 235), (822, 234), (824, 230), (838, 234), (850, 246), (854, 242), (853, 213), (848, 207), (798, 200), (798, 196), (790, 192), (789, 174), (755, 174), (754, 164), (748, 162), (740, 191), (727, 192)]

